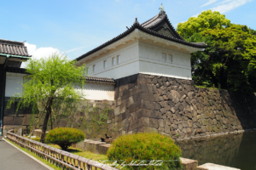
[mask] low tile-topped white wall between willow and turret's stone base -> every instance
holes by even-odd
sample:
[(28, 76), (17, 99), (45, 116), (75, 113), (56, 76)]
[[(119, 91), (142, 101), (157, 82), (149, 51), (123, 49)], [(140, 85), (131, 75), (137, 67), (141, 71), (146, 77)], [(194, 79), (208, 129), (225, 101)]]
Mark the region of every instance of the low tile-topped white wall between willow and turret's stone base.
[(86, 82), (83, 94), (85, 99), (114, 100), (114, 84)]

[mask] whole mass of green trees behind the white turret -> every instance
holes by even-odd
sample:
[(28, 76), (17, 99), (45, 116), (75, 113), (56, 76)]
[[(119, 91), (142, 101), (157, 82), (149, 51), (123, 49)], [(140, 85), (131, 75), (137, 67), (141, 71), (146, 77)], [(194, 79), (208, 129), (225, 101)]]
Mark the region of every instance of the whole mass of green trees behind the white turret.
[[(208, 24), (201, 24), (207, 20)], [(252, 29), (230, 24), (224, 15), (208, 10), (180, 23), (177, 31), (188, 42), (207, 43), (205, 51), (191, 54), (192, 77), (197, 85), (256, 91), (256, 38)]]

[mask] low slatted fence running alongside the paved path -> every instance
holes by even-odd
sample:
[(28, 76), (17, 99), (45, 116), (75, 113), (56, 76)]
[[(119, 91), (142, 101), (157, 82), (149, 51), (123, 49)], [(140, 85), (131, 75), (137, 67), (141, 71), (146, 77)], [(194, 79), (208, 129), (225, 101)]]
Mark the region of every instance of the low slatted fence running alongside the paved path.
[(55, 164), (57, 167), (61, 167), (61, 169), (66, 167), (66, 169), (69, 168), (75, 170), (117, 170), (114, 167), (109, 167), (108, 165), (100, 162), (92, 161), (81, 156), (76, 156), (67, 151), (53, 148), (47, 144), (42, 144), (32, 139), (26, 139), (11, 132), (13, 132), (13, 130), (10, 130), (7, 133), (7, 139), (15, 142), (15, 144), (19, 144), (23, 148), (31, 150), (37, 156), (49, 161), (49, 163)]

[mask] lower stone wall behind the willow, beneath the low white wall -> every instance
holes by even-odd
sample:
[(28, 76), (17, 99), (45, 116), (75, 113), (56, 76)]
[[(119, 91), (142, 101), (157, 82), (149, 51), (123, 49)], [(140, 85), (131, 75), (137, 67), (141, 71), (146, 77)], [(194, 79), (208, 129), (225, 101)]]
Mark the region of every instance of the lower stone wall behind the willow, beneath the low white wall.
[[(8, 99), (6, 99), (7, 103)], [(32, 113), (29, 109), (20, 110), (15, 113), (16, 105), (11, 106), (9, 110), (4, 111), (3, 117), (3, 135), (8, 130), (14, 129), (15, 133), (22, 129), (22, 133), (30, 132)], [(106, 139), (109, 129), (108, 119), (113, 117), (114, 102), (108, 100), (87, 100), (81, 101), (78, 109), (70, 116), (61, 117), (60, 122), (54, 122), (53, 127), (75, 127), (84, 131), (86, 139)], [(35, 115), (35, 122), (38, 115)], [(33, 123), (35, 124), (35, 123)], [(43, 121), (38, 123), (37, 128), (41, 128)], [(50, 130), (50, 126), (47, 130)], [(20, 133), (20, 135), (22, 135)]]

